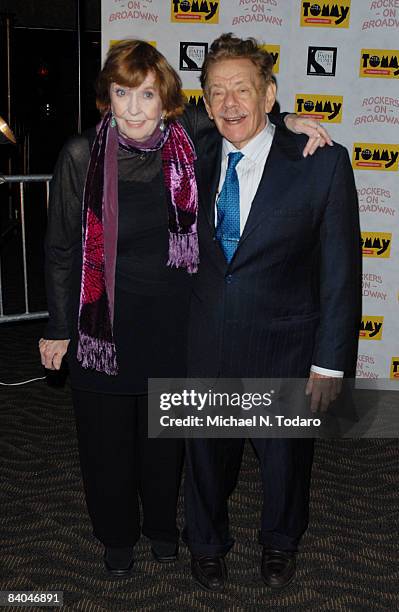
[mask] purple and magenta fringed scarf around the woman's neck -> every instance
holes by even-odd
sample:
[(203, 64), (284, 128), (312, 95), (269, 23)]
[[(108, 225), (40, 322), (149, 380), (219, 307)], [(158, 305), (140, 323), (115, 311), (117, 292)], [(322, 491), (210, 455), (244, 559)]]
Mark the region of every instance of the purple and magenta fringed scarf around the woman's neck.
[[(78, 361), (83, 368), (116, 375), (113, 337), (115, 264), (118, 240), (118, 147), (161, 149), (168, 197), (168, 266), (192, 274), (199, 263), (198, 190), (193, 143), (179, 123), (159, 128), (145, 143), (121, 136), (107, 113), (98, 127), (83, 194), (83, 268), (79, 306)], [(104, 232), (104, 227), (106, 231)]]

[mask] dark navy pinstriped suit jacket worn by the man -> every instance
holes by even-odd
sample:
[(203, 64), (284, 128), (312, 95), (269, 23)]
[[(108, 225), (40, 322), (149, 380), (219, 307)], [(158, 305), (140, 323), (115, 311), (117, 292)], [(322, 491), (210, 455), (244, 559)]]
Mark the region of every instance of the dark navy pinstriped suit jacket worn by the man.
[(193, 377), (352, 373), (360, 321), (357, 194), (339, 144), (302, 157), (306, 138), (276, 128), (230, 264), (215, 238), (222, 139), (197, 142), (200, 267), (189, 330)]

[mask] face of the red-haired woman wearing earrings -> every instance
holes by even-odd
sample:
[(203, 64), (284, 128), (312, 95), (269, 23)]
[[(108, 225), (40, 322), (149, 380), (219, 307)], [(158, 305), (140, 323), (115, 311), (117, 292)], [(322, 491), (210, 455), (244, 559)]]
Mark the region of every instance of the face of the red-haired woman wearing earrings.
[(138, 142), (147, 140), (160, 122), (162, 100), (153, 73), (138, 87), (111, 83), (111, 110), (121, 134)]

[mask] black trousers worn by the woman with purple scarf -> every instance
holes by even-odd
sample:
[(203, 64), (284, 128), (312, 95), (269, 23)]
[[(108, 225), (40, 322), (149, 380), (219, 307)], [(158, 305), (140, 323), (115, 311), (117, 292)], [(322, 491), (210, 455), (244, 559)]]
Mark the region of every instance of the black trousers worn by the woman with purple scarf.
[(177, 542), (183, 440), (148, 438), (147, 396), (74, 389), (73, 404), (94, 535), (105, 546), (134, 546), (140, 532)]

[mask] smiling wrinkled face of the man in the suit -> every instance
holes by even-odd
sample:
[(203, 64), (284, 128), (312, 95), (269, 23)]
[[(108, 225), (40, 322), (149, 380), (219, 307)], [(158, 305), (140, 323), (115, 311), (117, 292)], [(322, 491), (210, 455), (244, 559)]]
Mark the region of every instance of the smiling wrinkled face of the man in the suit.
[(276, 87), (262, 85), (258, 69), (246, 58), (220, 60), (209, 69), (206, 110), (237, 149), (263, 130), (265, 113), (273, 108)]

